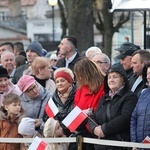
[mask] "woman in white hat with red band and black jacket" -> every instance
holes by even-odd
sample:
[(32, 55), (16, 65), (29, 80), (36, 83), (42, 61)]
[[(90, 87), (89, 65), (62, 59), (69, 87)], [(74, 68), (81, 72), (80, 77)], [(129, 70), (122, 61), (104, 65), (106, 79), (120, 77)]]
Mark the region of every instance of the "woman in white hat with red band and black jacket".
[[(74, 95), (76, 92), (76, 85), (74, 84), (74, 75), (69, 68), (58, 68), (54, 72), (54, 81), (56, 84), (56, 91), (52, 96), (52, 100), (57, 106), (59, 113), (55, 119), (60, 123), (71, 112), (74, 104)], [(48, 119), (45, 113), (44, 121)], [(66, 136), (70, 136), (70, 131), (61, 123)]]

